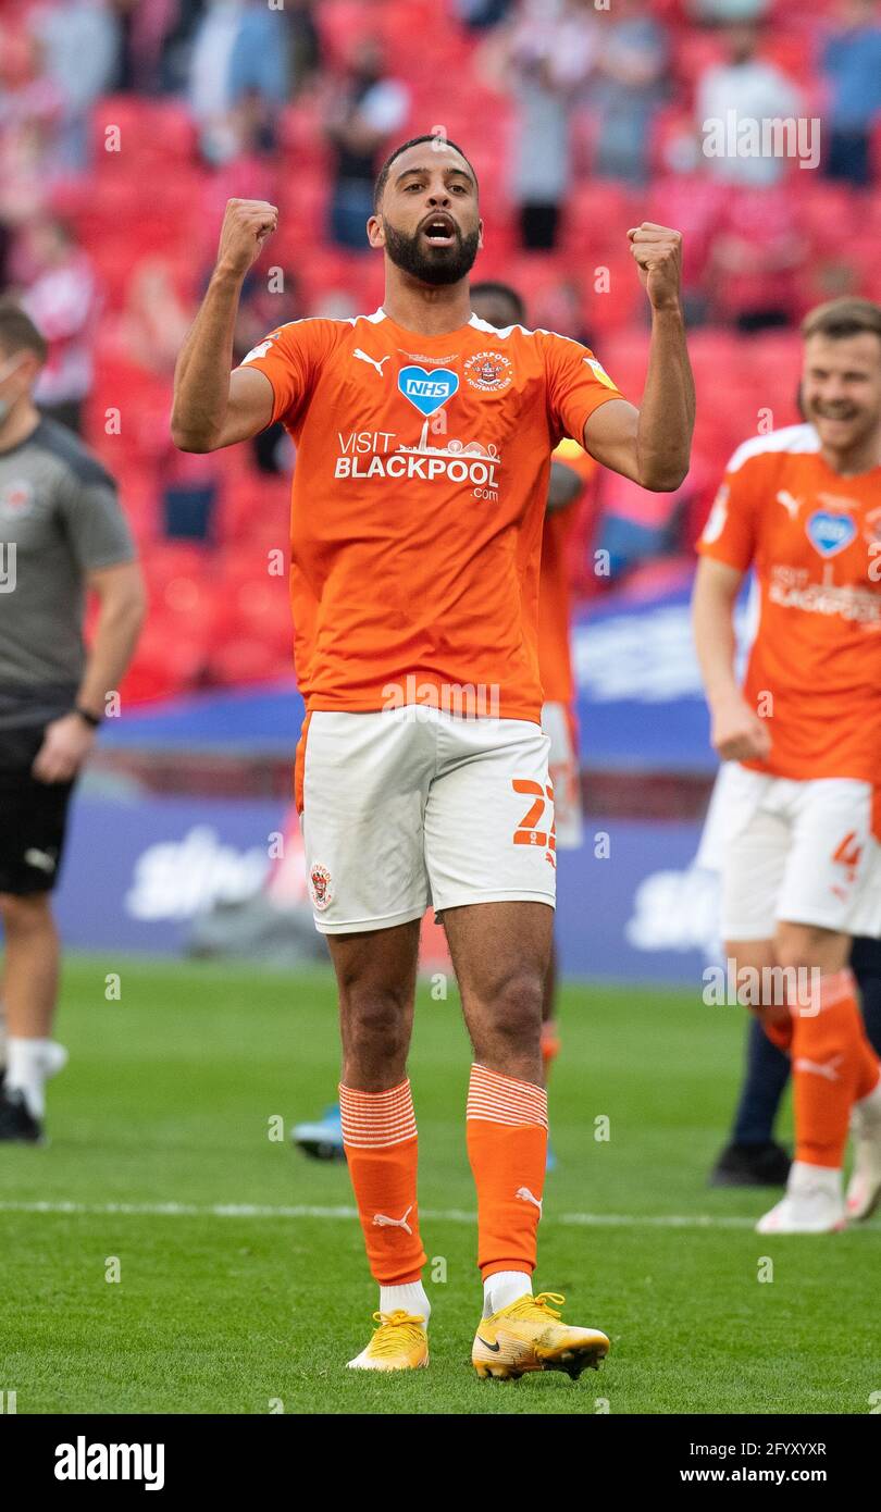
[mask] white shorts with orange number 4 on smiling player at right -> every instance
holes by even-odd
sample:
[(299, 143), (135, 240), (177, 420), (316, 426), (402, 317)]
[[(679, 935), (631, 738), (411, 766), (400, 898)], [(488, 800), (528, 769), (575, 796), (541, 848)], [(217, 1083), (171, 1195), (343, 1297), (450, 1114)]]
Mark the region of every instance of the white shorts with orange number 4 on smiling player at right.
[(881, 847), (872, 786), (796, 782), (725, 762), (697, 865), (722, 878), (722, 936), (771, 939), (778, 919), (881, 936)]

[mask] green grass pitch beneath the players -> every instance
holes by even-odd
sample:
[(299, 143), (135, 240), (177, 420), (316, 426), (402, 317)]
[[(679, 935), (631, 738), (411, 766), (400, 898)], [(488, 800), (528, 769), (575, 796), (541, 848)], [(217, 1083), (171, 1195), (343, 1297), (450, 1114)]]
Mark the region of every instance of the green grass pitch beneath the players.
[[(345, 1370), (376, 1306), (346, 1169), (287, 1140), (335, 1095), (329, 972), (68, 959), (51, 1143), (0, 1146), (0, 1390), (20, 1414), (870, 1412), (881, 1223), (762, 1238), (750, 1222), (774, 1193), (706, 1187), (739, 1010), (570, 986), (561, 1022), (536, 1285), (611, 1335), (609, 1359), (576, 1383), (475, 1377), (468, 1048), (455, 990), (423, 987), (411, 1080), (432, 1358), (375, 1377)], [(242, 1205), (260, 1211), (218, 1211)]]

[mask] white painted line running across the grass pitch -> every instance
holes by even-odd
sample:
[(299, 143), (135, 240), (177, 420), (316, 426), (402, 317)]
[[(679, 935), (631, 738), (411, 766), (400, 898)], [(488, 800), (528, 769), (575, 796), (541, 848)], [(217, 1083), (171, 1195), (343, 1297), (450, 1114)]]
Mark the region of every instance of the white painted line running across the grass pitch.
[[(76, 1217), (172, 1217), (172, 1219), (346, 1219), (358, 1217), (355, 1208), (272, 1207), (257, 1202), (0, 1202), (0, 1213), (73, 1214)], [(478, 1214), (462, 1208), (420, 1208), (420, 1219), (441, 1223), (476, 1223)], [(549, 1213), (546, 1223), (580, 1228), (743, 1228), (756, 1219), (718, 1217), (709, 1213)]]

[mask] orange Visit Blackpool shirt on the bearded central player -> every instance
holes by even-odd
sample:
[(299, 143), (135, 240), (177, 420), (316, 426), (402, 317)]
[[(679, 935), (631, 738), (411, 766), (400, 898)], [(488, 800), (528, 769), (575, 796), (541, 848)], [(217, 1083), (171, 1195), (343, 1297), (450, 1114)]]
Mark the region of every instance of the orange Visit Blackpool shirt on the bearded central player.
[[(618, 389), (588, 348), (471, 316), (304, 319), (248, 354), (296, 445), (290, 596), (308, 711), (493, 689), (538, 723), (550, 454)], [(441, 708), (444, 705), (441, 703)]]

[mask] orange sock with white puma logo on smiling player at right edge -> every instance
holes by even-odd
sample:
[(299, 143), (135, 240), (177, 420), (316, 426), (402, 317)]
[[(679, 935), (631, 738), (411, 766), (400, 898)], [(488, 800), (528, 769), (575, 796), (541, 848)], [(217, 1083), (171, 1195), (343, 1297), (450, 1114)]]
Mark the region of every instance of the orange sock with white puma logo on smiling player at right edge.
[(876, 1081), (878, 1057), (866, 1039), (854, 974), (827, 975), (819, 1013), (792, 1015), (795, 1158), (840, 1169), (851, 1108)]

